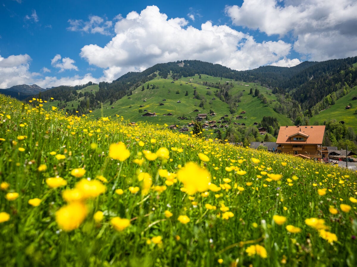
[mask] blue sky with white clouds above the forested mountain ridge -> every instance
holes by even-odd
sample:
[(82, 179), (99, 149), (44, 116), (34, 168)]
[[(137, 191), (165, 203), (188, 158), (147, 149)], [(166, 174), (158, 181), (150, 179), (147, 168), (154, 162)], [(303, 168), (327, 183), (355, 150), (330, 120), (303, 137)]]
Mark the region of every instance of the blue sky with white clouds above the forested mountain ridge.
[(2, 0), (0, 88), (100, 82), (199, 59), (237, 70), (357, 55), (353, 0)]

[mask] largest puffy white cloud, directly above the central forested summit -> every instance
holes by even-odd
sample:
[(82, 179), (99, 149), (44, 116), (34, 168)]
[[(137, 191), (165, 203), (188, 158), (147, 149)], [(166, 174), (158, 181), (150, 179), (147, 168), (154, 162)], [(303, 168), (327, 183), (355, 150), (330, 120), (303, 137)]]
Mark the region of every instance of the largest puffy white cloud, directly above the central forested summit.
[(168, 19), (157, 6), (147, 6), (140, 14), (130, 12), (115, 23), (115, 33), (104, 47), (86, 45), (80, 53), (90, 64), (105, 69), (106, 80), (180, 59), (220, 63), (237, 70), (256, 68), (283, 59), (292, 48), (283, 41), (258, 43), (248, 34), (209, 21), (197, 29), (184, 18)]

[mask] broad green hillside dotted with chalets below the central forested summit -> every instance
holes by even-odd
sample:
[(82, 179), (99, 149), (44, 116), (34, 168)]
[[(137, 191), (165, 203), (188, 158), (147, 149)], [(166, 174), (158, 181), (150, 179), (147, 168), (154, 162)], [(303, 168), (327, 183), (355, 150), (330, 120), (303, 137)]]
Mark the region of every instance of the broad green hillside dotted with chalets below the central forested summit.
[[(258, 98), (253, 98), (249, 95), (250, 87), (246, 87), (242, 82), (231, 81), (230, 79), (222, 79), (218, 77), (212, 77), (208, 75), (201, 75), (202, 79), (198, 79), (198, 75), (192, 77), (186, 77), (178, 79), (172, 83), (171, 79), (155, 78), (149, 83), (144, 84), (144, 91), (142, 87), (135, 89), (132, 95), (125, 96), (122, 99), (117, 100), (110, 105), (109, 101), (104, 103), (102, 109), (97, 109), (92, 112), (92, 116), (115, 116), (116, 114), (123, 116), (125, 119), (131, 121), (150, 121), (163, 125), (186, 125), (191, 120), (194, 120), (198, 113), (209, 113), (210, 110), (216, 112), (215, 117), (208, 117), (210, 120), (219, 120), (220, 117), (228, 114), (229, 118), (233, 118), (233, 121), (245, 123), (247, 126), (252, 125), (254, 122), (260, 122), (263, 116), (270, 115), (277, 117), (281, 125), (291, 124), (291, 120), (286, 116), (275, 112), (271, 106), (263, 104)], [(238, 103), (237, 112), (235, 114), (229, 114), (230, 108), (227, 103), (221, 101), (215, 96), (216, 88), (206, 89), (207, 86), (203, 85), (208, 83), (232, 83), (233, 87), (230, 89), (231, 95), (242, 93), (241, 102)], [(203, 84), (198, 84), (203, 83)], [(149, 89), (147, 88), (149, 84)], [(249, 86), (258, 88), (261, 93), (266, 95), (269, 100), (276, 100), (275, 95), (265, 94), (266, 88), (250, 83)], [(153, 88), (154, 89), (151, 89)], [(196, 87), (196, 88), (195, 88)], [(194, 91), (203, 98), (206, 99), (204, 108), (199, 107), (201, 100), (193, 98)], [(219, 89), (218, 89), (219, 90)], [(188, 95), (186, 96), (186, 91)], [(178, 93), (177, 93), (178, 92)], [(215, 98), (215, 99), (213, 99)], [(166, 99), (164, 101), (163, 99)], [(146, 100), (146, 101), (144, 101)], [(181, 103), (177, 103), (181, 101)], [(164, 105), (160, 105), (160, 103)], [(142, 105), (142, 107), (140, 107)], [(139, 113), (139, 109), (143, 112)], [(193, 112), (198, 109), (198, 112)], [(145, 114), (144, 110), (148, 112), (155, 112), (155, 117), (142, 117)], [(246, 111), (245, 116), (247, 119), (235, 120), (234, 118), (240, 114), (241, 111)], [(172, 113), (172, 116), (164, 116), (168, 113)], [(187, 117), (188, 120), (179, 120), (178, 117)]]

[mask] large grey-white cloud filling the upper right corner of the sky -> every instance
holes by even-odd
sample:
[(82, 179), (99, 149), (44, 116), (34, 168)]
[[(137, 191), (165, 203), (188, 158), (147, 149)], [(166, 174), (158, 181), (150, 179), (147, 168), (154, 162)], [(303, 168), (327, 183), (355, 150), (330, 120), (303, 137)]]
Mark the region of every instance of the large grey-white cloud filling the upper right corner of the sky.
[(245, 0), (225, 12), (234, 25), (268, 36), (292, 33), (295, 51), (311, 60), (356, 55), (355, 0)]

